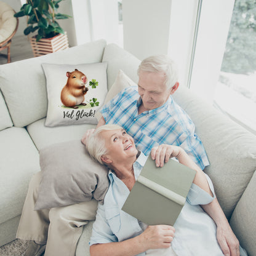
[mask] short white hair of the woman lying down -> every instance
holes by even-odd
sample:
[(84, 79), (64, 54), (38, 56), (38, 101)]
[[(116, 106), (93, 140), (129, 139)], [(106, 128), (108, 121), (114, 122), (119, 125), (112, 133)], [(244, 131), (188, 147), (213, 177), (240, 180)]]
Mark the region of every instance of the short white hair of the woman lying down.
[(88, 138), (86, 148), (90, 156), (94, 158), (96, 161), (100, 162), (100, 164), (103, 164), (102, 156), (108, 153), (108, 150), (106, 149), (105, 145), (105, 140), (103, 140), (103, 138), (100, 137), (100, 133), (105, 130), (118, 129), (122, 129), (122, 127), (118, 126), (117, 124), (105, 124), (104, 126), (98, 127), (95, 130), (95, 132)]

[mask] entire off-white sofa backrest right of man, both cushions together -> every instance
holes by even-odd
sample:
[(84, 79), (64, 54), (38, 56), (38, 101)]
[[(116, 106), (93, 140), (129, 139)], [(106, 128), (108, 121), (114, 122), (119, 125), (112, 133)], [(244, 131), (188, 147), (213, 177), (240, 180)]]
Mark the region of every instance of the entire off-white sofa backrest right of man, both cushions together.
[(191, 90), (179, 88), (174, 100), (189, 114), (202, 140), (210, 166), (204, 170), (249, 255), (256, 252), (256, 136), (217, 111)]

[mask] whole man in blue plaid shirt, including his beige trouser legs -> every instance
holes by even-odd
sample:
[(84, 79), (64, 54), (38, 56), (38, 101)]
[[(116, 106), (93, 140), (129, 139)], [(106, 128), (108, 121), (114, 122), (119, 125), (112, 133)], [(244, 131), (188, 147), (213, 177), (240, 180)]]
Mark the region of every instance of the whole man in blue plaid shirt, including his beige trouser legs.
[[(138, 75), (138, 88), (125, 89), (106, 104), (101, 110), (103, 117), (97, 127), (105, 123), (119, 124), (132, 135), (138, 150), (146, 155), (151, 148), (161, 144), (181, 146), (204, 169), (209, 162), (201, 141), (194, 133), (194, 124), (170, 97), (178, 88), (177, 72), (172, 61), (162, 55), (146, 58), (138, 68)], [(86, 143), (92, 132), (94, 129), (88, 130), (82, 142)], [(39, 183), (40, 177), (31, 180), (17, 231), (17, 238), (34, 241), (25, 255), (41, 255), (39, 252), (44, 249), (47, 256), (74, 255), (82, 226), (94, 218), (97, 204), (90, 201), (34, 211)], [(91, 206), (86, 207), (87, 204)], [(217, 238), (223, 252), (230, 255), (239, 243), (217, 199), (205, 206), (204, 210), (217, 224)], [(34, 224), (26, 225), (31, 220)]]

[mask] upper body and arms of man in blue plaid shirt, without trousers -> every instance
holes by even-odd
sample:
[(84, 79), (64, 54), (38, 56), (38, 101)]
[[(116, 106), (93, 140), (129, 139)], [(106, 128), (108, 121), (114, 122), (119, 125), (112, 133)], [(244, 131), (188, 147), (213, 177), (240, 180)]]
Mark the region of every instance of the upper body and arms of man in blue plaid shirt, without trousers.
[[(180, 146), (203, 170), (209, 165), (206, 151), (190, 117), (171, 97), (179, 86), (174, 62), (166, 55), (145, 58), (138, 67), (138, 76), (138, 87), (122, 90), (103, 106), (97, 127), (118, 124), (146, 155), (161, 144)], [(84, 144), (93, 132), (91, 129), (84, 134)], [(233, 255), (239, 243), (221, 214), (217, 198), (203, 208), (217, 225), (217, 239), (224, 254)]]

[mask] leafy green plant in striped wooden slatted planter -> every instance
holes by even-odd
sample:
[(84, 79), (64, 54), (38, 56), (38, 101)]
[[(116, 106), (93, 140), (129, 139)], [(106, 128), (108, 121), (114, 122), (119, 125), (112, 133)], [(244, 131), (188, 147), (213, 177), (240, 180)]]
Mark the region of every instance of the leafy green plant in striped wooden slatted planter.
[(24, 34), (36, 35), (30, 38), (34, 56), (49, 54), (68, 48), (68, 38), (57, 20), (70, 18), (57, 12), (63, 0), (27, 0), (15, 17), (28, 17)]

